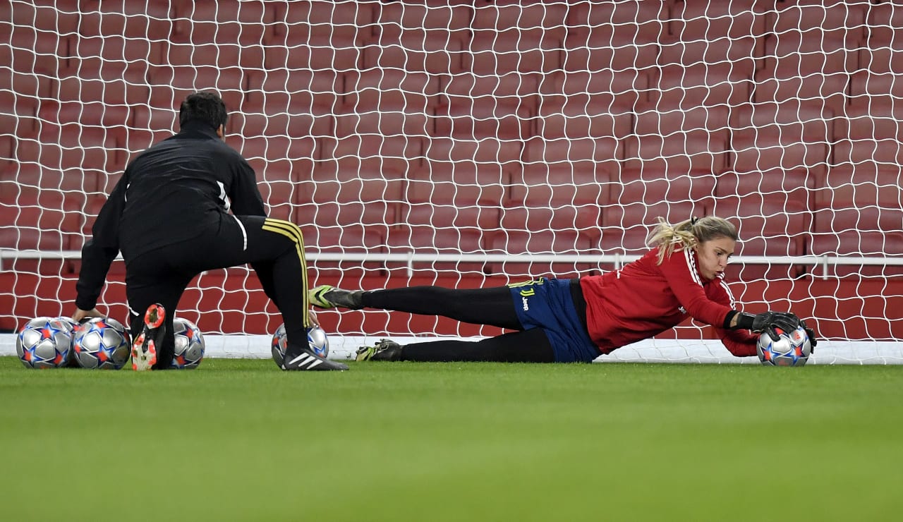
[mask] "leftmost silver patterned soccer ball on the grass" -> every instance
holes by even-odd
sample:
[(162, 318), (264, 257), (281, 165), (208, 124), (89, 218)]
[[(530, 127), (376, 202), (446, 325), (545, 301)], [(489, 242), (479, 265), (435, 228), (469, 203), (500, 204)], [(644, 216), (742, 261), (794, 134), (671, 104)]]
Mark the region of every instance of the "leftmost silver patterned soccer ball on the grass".
[(36, 317), (15, 338), (15, 353), (25, 368), (61, 368), (70, 360), (75, 322), (66, 317)]

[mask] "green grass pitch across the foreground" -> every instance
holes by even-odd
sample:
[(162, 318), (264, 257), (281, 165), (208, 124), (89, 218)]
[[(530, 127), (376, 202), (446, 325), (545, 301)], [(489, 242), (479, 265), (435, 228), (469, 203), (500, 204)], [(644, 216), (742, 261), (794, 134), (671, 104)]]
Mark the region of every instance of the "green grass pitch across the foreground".
[(898, 520), (903, 367), (0, 358), (3, 520)]

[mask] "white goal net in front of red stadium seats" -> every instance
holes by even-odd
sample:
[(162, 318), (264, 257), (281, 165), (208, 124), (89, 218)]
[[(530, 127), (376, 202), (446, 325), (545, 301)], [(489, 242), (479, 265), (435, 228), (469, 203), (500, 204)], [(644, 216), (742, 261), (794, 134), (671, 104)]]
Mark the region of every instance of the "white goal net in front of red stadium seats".
[[(811, 318), (819, 361), (903, 362), (901, 27), (903, 6), (866, 1), (0, 0), (0, 331), (72, 312), (107, 191), (216, 89), (313, 284), (599, 274), (657, 217), (714, 214), (740, 229), (746, 310)], [(101, 296), (122, 319), (124, 273)], [(246, 267), (200, 275), (179, 313), (238, 343), (282, 322)], [(688, 322), (638, 357), (730, 359), (712, 337)]]

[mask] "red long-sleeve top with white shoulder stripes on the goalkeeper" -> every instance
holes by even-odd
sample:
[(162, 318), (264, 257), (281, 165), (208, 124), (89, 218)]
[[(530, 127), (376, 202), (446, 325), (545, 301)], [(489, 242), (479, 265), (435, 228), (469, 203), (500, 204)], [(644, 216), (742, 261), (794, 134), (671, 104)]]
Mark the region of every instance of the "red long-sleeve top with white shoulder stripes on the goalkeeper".
[(731, 290), (721, 277), (703, 279), (693, 249), (675, 249), (659, 265), (655, 247), (620, 270), (582, 277), (580, 284), (587, 329), (602, 353), (648, 339), (693, 317), (715, 327), (733, 355), (756, 355), (757, 335), (723, 328), (734, 309)]

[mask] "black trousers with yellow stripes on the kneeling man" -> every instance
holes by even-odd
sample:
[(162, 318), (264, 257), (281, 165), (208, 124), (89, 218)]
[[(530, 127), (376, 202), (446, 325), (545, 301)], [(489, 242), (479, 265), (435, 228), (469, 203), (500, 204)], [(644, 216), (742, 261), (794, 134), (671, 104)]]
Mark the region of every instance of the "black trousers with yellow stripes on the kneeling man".
[(149, 305), (160, 303), (166, 310), (166, 334), (163, 346), (157, 348), (154, 369), (170, 367), (175, 350), (172, 318), (191, 279), (205, 270), (246, 263), (254, 268), (264, 292), (282, 312), (289, 348), (307, 346), (307, 269), (301, 230), (281, 219), (224, 215), (219, 227), (199, 238), (140, 256), (126, 256), (126, 297), (133, 338), (144, 326), (144, 311)]

